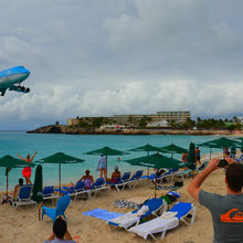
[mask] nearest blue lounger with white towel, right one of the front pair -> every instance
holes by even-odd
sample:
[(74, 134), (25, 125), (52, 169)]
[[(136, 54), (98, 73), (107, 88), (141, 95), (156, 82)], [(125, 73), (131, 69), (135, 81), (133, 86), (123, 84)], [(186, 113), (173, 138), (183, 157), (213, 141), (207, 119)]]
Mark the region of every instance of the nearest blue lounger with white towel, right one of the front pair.
[[(169, 212), (165, 212), (161, 216), (150, 220), (146, 223), (133, 226), (129, 229), (130, 232), (138, 234), (139, 236), (147, 239), (150, 235), (157, 240), (155, 234), (161, 233), (161, 239), (166, 236), (166, 232), (179, 225), (182, 221), (187, 225), (194, 222), (196, 207), (192, 203), (178, 202)], [(188, 215), (191, 214), (191, 218)]]

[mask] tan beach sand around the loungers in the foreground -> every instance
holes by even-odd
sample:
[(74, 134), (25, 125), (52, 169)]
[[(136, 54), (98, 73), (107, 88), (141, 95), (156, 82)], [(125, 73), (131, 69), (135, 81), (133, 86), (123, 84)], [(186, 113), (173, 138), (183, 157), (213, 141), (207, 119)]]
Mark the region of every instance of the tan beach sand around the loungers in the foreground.
[[(214, 156), (215, 157), (215, 156)], [(192, 202), (197, 207), (196, 219), (192, 225), (180, 225), (167, 232), (163, 240), (157, 242), (165, 243), (210, 243), (213, 239), (212, 221), (209, 211), (196, 202), (187, 192), (187, 186), (191, 179), (184, 179), (184, 184), (178, 191), (182, 193), (179, 201)], [(88, 200), (77, 199), (71, 202), (66, 210), (67, 225), (73, 237), (76, 236), (78, 243), (140, 243), (144, 239), (129, 233), (123, 229), (112, 229), (99, 219), (85, 216), (82, 213), (96, 208), (106, 209), (113, 212), (126, 213), (131, 209), (116, 208), (113, 202), (117, 199), (134, 199), (135, 201), (154, 197), (154, 184), (146, 182), (136, 189), (125, 189), (117, 192), (115, 189), (108, 193), (99, 193)], [(210, 175), (203, 183), (204, 190), (225, 194), (224, 171), (219, 169)], [(167, 191), (158, 190), (157, 197)], [(44, 205), (53, 207), (51, 202)], [(0, 242), (43, 242), (52, 232), (52, 221), (45, 216), (43, 221), (38, 221), (38, 208), (33, 205), (20, 207), (17, 210), (10, 204), (0, 205)], [(147, 242), (155, 242), (148, 237)]]

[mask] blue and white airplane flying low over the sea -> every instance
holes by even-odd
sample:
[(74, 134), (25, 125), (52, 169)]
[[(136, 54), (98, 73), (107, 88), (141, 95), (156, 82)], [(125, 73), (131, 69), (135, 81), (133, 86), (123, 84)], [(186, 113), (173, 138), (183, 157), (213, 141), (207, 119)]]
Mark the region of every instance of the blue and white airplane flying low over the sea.
[(24, 66), (14, 66), (9, 70), (0, 72), (0, 93), (4, 96), (6, 92), (15, 91), (22, 93), (29, 93), (29, 87), (23, 87), (20, 84), (30, 76), (30, 71)]

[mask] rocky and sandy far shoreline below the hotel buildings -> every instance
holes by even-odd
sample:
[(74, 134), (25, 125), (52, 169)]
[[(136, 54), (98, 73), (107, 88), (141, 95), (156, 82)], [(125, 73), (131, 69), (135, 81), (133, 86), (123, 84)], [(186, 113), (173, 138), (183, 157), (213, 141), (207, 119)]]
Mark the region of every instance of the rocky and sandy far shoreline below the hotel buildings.
[(129, 129), (129, 130), (87, 130), (81, 127), (66, 125), (49, 125), (39, 127), (34, 130), (28, 130), (28, 134), (66, 134), (66, 135), (221, 135), (221, 136), (243, 136), (242, 130), (193, 130), (193, 129)]

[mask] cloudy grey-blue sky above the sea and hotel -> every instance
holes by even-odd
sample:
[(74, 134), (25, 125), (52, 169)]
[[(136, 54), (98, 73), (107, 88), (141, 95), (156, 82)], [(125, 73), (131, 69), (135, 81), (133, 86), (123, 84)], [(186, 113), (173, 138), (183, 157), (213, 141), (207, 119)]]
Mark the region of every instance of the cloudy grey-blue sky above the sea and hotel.
[(242, 0), (0, 0), (0, 129), (76, 116), (243, 116)]

